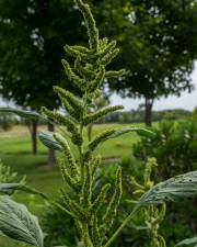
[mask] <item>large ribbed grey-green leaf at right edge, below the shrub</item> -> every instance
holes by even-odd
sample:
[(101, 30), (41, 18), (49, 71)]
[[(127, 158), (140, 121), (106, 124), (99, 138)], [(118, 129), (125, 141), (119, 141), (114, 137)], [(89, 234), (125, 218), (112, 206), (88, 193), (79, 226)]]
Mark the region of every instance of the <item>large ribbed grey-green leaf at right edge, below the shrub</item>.
[(161, 204), (169, 200), (177, 201), (194, 195), (197, 195), (197, 171), (179, 175), (158, 183), (140, 198), (137, 207)]

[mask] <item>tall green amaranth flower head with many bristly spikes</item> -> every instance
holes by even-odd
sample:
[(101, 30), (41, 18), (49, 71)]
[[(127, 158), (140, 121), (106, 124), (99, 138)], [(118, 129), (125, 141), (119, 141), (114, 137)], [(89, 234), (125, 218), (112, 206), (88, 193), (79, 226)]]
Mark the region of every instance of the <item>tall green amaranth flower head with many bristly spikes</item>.
[[(63, 180), (77, 194), (73, 199), (68, 189), (61, 191), (65, 207), (73, 216), (83, 245), (85, 247), (101, 247), (113, 225), (121, 197), (121, 170), (118, 168), (116, 172), (115, 186), (113, 186), (115, 189), (109, 200), (108, 194), (111, 194), (112, 184), (104, 184), (100, 192), (95, 194), (93, 188), (95, 186), (96, 170), (102, 162), (95, 150), (116, 130), (107, 130), (101, 133), (86, 145), (83, 130), (101, 117), (123, 109), (121, 105), (115, 105), (103, 108), (96, 112), (90, 111), (95, 99), (101, 96), (100, 86), (102, 82), (106, 78), (120, 77), (124, 70), (106, 70), (106, 66), (119, 52), (116, 42), (100, 38), (90, 7), (83, 3), (82, 0), (76, 0), (76, 4), (85, 21), (89, 45), (86, 47), (66, 45), (65, 50), (71, 57), (73, 64), (70, 65), (68, 60), (62, 59), (62, 65), (67, 77), (80, 90), (80, 97), (69, 90), (54, 87), (66, 110), (66, 114), (46, 108), (43, 108), (42, 112), (51, 123), (66, 127), (68, 133), (67, 135), (62, 133), (54, 134), (54, 139), (63, 151), (63, 157), (58, 159)], [(79, 150), (78, 157), (72, 154), (67, 139), (68, 136)], [(101, 214), (103, 214), (102, 217), (99, 216)]]

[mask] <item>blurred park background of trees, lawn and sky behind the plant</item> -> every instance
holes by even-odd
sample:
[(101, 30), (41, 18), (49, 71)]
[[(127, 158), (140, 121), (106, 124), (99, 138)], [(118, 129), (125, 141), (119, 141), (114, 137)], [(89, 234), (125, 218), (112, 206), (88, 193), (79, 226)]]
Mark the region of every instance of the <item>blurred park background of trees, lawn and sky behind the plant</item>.
[[(129, 175), (142, 179), (147, 157), (155, 157), (159, 168), (153, 178), (169, 177), (197, 168), (197, 1), (196, 0), (86, 0), (97, 21), (101, 37), (116, 40), (119, 56), (111, 66), (125, 68), (118, 80), (105, 80), (97, 109), (123, 104), (88, 127), (91, 139), (108, 126), (151, 127), (152, 138), (124, 135), (100, 148), (104, 180), (114, 167), (123, 166), (125, 192), (131, 197)], [(82, 16), (72, 0), (0, 0), (0, 106), (39, 111), (42, 105), (60, 109), (53, 91), (58, 85), (76, 90), (63, 75), (61, 58), (66, 44), (85, 44)], [(26, 121), (14, 114), (0, 114), (0, 178), (21, 180), (57, 197), (61, 178), (53, 150), (37, 138), (40, 130), (54, 131), (42, 121)], [(8, 169), (11, 169), (8, 171)], [(12, 173), (13, 172), (13, 173)], [(15, 173), (16, 172), (16, 173)], [(2, 176), (1, 176), (2, 173)], [(13, 176), (14, 175), (14, 176)], [(53, 245), (76, 246), (72, 221), (35, 197), (15, 195), (18, 201), (40, 216)], [(167, 246), (197, 234), (197, 200), (169, 204), (161, 232)], [(115, 227), (128, 211), (123, 200)], [(172, 213), (173, 212), (173, 213)], [(142, 218), (137, 215), (135, 225)], [(62, 224), (65, 228), (62, 228)], [(149, 236), (130, 224), (115, 246), (149, 246)], [(69, 226), (69, 227), (68, 227)], [(50, 237), (49, 237), (50, 235)], [(143, 237), (142, 237), (143, 236)], [(3, 244), (4, 243), (4, 244)], [(146, 243), (146, 244), (144, 244)], [(1, 247), (22, 246), (0, 238)]]

